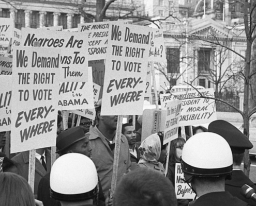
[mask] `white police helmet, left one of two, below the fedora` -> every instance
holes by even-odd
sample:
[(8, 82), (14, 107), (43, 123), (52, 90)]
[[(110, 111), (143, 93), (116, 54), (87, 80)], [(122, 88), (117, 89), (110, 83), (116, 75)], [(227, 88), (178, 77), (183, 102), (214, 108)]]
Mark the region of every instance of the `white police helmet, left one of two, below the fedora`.
[(91, 159), (68, 153), (53, 164), (50, 174), (51, 197), (62, 201), (82, 201), (97, 195), (98, 175)]

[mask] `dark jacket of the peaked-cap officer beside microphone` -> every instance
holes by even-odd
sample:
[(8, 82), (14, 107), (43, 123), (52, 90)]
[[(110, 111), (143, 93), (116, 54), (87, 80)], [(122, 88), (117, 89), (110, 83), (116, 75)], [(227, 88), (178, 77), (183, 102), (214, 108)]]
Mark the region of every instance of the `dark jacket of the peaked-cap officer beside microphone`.
[(247, 202), (250, 205), (255, 205), (256, 202), (254, 202), (251, 199), (245, 198), (243, 195), (240, 194), (241, 187), (244, 184), (248, 184), (251, 186), (254, 191), (256, 191), (256, 186), (254, 183), (244, 174), (242, 170), (233, 170), (232, 172), (232, 179), (225, 181), (225, 191), (230, 192), (231, 195), (234, 197), (238, 197), (239, 199)]

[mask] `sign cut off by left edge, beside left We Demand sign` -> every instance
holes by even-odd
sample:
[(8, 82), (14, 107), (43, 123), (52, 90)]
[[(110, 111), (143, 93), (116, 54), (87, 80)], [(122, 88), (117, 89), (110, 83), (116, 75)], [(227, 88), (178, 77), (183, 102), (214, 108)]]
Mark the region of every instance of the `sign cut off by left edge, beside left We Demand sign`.
[(0, 75), (0, 132), (11, 130), (11, 75)]

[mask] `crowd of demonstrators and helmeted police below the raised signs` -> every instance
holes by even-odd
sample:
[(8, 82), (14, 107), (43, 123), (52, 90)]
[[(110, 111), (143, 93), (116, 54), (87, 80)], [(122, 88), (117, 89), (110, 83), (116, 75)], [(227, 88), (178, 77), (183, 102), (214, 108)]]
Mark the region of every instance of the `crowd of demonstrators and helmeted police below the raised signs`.
[[(18, 177), (17, 182), (26, 182), (22, 187), (27, 191), (27, 199), (32, 201), (32, 204), (24, 204), (23, 201), (28, 200), (13, 200), (21, 202), (19, 205), (256, 205), (254, 201), (240, 195), (240, 188), (244, 184), (256, 189), (240, 168), (244, 151), (252, 148), (252, 144), (236, 127), (222, 120), (210, 123), (208, 130), (202, 126), (195, 127), (194, 135), (188, 137), (187, 142), (180, 135), (171, 141), (167, 177), (164, 169), (167, 144), (163, 145), (163, 133), (149, 135), (138, 142), (135, 127), (129, 123), (124, 124), (118, 162), (118, 185), (113, 197), (109, 197), (117, 116), (101, 115), (101, 101), (98, 101), (96, 117), (95, 126), (92, 126), (90, 119), (81, 118), (80, 126), (72, 127), (70, 124), (71, 128), (63, 131), (63, 119), (58, 115), (56, 153), (60, 157), (51, 170), (50, 151), (47, 148), (36, 150), (32, 198), (29, 198), (31, 189), (25, 188), (28, 186), (29, 151), (20, 152), (11, 160), (3, 153), (3, 157), (0, 156), (0, 191), (4, 190), (1, 186), (6, 184), (6, 178), (14, 186), (11, 181)], [(4, 138), (5, 132), (2, 133), (1, 138)], [(185, 181), (191, 183), (197, 195), (193, 201), (176, 199), (176, 163), (182, 164)], [(22, 187), (16, 187), (4, 194), (11, 197), (14, 192), (19, 193)], [(0, 201), (6, 201), (6, 198)], [(12, 203), (3, 205), (12, 206)]]

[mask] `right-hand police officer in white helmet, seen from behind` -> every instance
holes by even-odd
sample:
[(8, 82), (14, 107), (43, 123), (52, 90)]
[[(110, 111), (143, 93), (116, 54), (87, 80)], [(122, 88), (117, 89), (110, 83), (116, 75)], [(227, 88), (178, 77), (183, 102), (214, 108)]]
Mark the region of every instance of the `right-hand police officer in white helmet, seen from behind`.
[(232, 152), (220, 135), (202, 132), (191, 136), (183, 148), (182, 168), (198, 199), (193, 206), (244, 206), (246, 202), (225, 192), (225, 179), (232, 173)]

